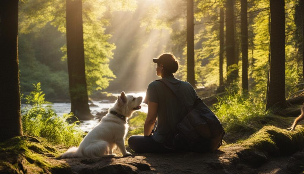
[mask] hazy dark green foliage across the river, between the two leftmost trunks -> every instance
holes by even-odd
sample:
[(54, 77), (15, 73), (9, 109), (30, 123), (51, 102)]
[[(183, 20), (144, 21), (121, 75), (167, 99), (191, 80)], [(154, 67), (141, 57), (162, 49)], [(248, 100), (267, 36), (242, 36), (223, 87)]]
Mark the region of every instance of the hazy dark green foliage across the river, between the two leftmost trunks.
[(21, 93), (28, 95), (32, 91), (32, 84), (41, 82), (48, 100), (70, 98), (67, 62), (60, 60), (62, 53), (57, 50), (65, 42), (61, 35), (50, 24), (41, 32), (19, 35)]

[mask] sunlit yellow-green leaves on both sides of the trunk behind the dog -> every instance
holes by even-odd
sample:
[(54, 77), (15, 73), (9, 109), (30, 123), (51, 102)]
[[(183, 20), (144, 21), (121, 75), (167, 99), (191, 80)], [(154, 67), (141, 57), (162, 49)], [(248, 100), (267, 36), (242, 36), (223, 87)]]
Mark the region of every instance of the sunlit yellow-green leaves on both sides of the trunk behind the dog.
[[(83, 37), (85, 49), (85, 72), (88, 94), (94, 90), (105, 89), (109, 81), (116, 76), (109, 69), (109, 60), (113, 58), (112, 51), (116, 48), (109, 43), (110, 34), (105, 34), (109, 25), (109, 14), (113, 11), (134, 11), (135, 0), (83, 0)], [(27, 34), (39, 31), (48, 22), (62, 33), (65, 28), (65, 1), (27, 0), (20, 4), (19, 32)], [(61, 51), (66, 53), (66, 46)], [(63, 55), (63, 60), (66, 58)]]

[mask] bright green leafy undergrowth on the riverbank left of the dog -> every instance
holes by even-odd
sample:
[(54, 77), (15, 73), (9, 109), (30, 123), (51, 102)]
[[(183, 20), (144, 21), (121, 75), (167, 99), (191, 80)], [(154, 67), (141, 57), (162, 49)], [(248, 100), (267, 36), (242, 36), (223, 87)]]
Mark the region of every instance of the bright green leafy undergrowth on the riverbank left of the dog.
[(82, 140), (78, 123), (69, 124), (66, 119), (72, 114), (57, 115), (50, 102), (45, 101), (41, 84), (34, 84), (34, 91), (25, 97), (27, 106), (22, 109), (22, 129), (25, 135), (43, 137), (54, 144), (77, 146)]

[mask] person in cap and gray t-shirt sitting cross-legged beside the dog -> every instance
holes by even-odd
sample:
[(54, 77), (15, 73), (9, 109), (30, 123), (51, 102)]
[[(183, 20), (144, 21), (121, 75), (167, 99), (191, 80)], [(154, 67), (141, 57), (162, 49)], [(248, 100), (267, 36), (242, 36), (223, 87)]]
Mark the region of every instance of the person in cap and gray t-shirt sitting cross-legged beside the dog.
[[(193, 105), (197, 96), (195, 89), (190, 83), (178, 80), (173, 75), (178, 70), (178, 61), (175, 56), (164, 53), (158, 59), (153, 59), (153, 62), (157, 63), (157, 76), (170, 82), (185, 98), (187, 105)], [(149, 84), (143, 103), (148, 105), (148, 114), (143, 128), (144, 135), (131, 136), (128, 140), (129, 147), (135, 152), (171, 151), (167, 148), (166, 141), (176, 131), (177, 124), (187, 112), (174, 92), (161, 81), (153, 81)], [(157, 127), (152, 133), (156, 121)], [(175, 151), (186, 149), (181, 142), (175, 142), (175, 144)]]

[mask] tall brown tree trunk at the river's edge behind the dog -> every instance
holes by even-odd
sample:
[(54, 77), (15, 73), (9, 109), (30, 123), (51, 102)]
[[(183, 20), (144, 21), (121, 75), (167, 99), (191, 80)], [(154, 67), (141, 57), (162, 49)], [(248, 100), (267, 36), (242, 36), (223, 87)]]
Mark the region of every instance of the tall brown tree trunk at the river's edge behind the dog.
[(66, 0), (66, 23), (71, 112), (78, 119), (92, 119), (93, 116), (88, 105), (87, 83), (85, 81), (81, 0)]

